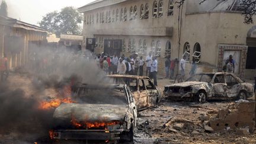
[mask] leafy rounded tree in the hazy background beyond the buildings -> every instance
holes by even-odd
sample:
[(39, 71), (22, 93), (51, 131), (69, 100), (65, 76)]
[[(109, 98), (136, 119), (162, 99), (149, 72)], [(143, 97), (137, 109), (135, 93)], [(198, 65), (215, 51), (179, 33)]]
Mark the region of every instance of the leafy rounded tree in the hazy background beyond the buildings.
[(52, 31), (57, 36), (60, 34), (81, 34), (78, 24), (82, 23), (81, 14), (73, 7), (65, 7), (60, 12), (53, 11), (40, 21), (40, 27)]

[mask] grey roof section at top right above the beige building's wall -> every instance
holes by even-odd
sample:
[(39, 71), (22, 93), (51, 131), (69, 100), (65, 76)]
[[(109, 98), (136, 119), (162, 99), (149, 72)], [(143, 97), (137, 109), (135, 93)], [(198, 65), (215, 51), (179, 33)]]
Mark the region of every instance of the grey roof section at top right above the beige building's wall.
[(187, 12), (241, 11), (242, 0), (210, 0), (199, 4), (199, 1), (188, 0)]

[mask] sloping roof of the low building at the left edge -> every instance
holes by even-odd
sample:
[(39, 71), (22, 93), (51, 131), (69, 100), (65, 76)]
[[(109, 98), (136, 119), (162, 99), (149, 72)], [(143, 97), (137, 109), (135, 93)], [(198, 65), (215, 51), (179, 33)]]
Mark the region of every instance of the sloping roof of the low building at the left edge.
[(47, 33), (47, 30), (44, 30), (43, 28), (37, 25), (28, 24), (10, 17), (0, 16), (0, 24), (7, 25), (9, 27), (24, 28), (25, 30), (33, 30)]

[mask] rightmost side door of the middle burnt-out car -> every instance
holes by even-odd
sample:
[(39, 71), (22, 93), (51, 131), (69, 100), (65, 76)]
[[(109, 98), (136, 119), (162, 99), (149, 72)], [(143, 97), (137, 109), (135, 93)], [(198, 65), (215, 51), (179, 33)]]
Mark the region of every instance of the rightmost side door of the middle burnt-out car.
[(143, 82), (146, 86), (146, 92), (148, 94), (148, 105), (152, 107), (156, 103), (159, 91), (156, 89), (155, 85), (153, 85), (153, 82), (150, 79), (143, 79)]

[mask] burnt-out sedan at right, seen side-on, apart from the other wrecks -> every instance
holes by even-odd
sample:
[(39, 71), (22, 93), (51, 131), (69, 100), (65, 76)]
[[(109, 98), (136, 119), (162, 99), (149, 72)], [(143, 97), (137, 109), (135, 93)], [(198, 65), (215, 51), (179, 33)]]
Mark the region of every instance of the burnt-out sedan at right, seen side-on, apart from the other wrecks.
[(199, 73), (185, 82), (167, 85), (164, 95), (169, 100), (237, 100), (253, 95), (252, 84), (242, 81), (233, 73)]

